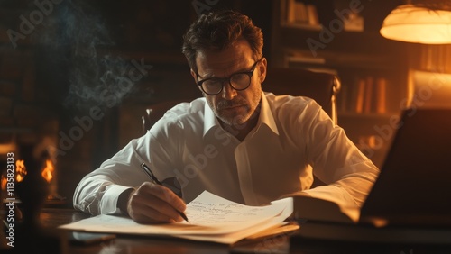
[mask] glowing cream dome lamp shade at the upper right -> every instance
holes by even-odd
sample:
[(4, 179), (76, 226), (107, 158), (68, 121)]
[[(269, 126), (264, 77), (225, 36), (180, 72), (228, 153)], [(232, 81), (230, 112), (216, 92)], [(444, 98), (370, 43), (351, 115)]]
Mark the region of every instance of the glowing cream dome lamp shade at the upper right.
[(423, 44), (451, 43), (451, 11), (400, 5), (382, 23), (383, 37)]

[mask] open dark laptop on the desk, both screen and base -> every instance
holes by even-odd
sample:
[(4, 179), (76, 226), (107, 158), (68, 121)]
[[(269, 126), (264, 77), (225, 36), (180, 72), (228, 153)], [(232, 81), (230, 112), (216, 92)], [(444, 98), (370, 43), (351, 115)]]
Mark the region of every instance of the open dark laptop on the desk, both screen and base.
[[(356, 223), (301, 222), (297, 237), (451, 245), (451, 109), (401, 113), (391, 148)], [(296, 207), (294, 210), (302, 207)]]

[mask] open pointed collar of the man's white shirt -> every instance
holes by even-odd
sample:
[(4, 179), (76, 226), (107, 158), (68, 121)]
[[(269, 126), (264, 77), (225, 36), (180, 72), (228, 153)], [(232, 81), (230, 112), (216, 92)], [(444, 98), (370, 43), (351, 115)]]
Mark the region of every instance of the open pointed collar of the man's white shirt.
[[(204, 98), (204, 100), (206, 99)], [(204, 118), (204, 136), (205, 136), (207, 132), (210, 131), (210, 129), (216, 126), (220, 127), (220, 124), (216, 118), (216, 114), (208, 105), (207, 100), (205, 102), (204, 112), (205, 112)], [(272, 132), (279, 135), (279, 130), (277, 129), (276, 122), (274, 121), (274, 116), (272, 115), (270, 104), (268, 103), (268, 99), (266, 98), (264, 92), (262, 92), (262, 105), (260, 108), (260, 115), (256, 126), (256, 130), (258, 130), (262, 124), (267, 125), (272, 130)]]

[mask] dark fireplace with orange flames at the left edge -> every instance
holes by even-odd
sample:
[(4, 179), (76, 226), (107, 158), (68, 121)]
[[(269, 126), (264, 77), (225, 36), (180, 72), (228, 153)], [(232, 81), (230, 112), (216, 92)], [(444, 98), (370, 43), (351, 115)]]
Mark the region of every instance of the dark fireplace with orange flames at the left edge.
[[(3, 53), (8, 55), (8, 52)], [(34, 75), (34, 59), (15, 52), (11, 55), (26, 64), (0, 65), (0, 101), (5, 105), (0, 109), (2, 191), (5, 192), (8, 180), (14, 186), (20, 185), (24, 178), (38, 171), (49, 191), (47, 203), (61, 204), (65, 198), (58, 191), (58, 160), (54, 149), (60, 129), (59, 116), (52, 109), (51, 100), (34, 93), (35, 90), (45, 93)], [(19, 196), (17, 198), (20, 200)]]

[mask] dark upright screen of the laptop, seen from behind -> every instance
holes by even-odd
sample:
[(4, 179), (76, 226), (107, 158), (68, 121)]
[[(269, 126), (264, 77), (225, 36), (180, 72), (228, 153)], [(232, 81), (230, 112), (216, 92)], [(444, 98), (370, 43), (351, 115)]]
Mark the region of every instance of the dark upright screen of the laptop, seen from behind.
[(451, 224), (451, 109), (410, 109), (400, 117), (361, 222)]

